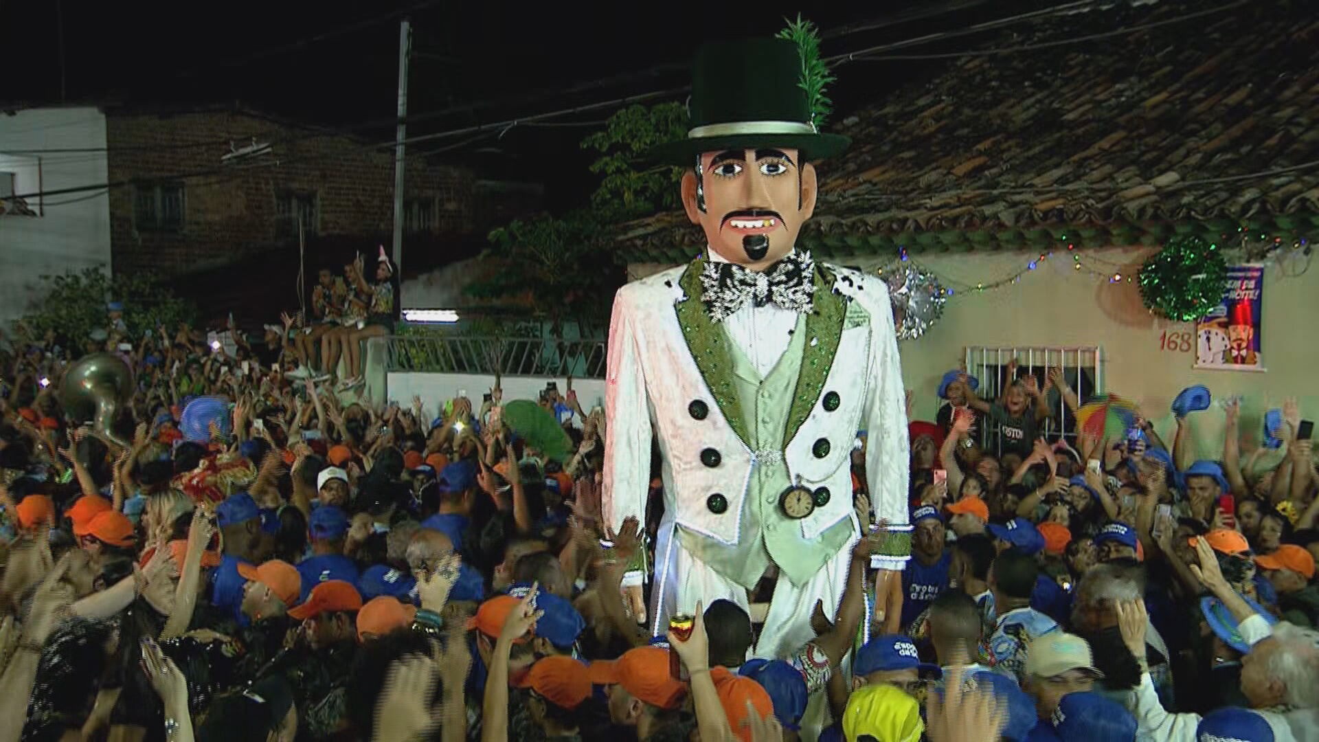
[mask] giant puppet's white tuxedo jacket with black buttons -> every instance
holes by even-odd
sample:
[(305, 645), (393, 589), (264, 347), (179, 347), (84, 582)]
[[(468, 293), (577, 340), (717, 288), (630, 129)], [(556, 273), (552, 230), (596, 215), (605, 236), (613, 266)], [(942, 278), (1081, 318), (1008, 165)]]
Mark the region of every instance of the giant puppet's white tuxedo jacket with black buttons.
[[(867, 430), (865, 469), (874, 518), (886, 520), (892, 531), (910, 531), (906, 411), (885, 283), (847, 268), (816, 265), (815, 314), (831, 320), (813, 327), (815, 320), (807, 317), (797, 395), (783, 400), (795, 405), (783, 450), (753, 452), (739, 434), (744, 422), (731, 422), (739, 409), (748, 409), (739, 405), (753, 400), (736, 399), (724, 376), (732, 374), (727, 356), (723, 363), (711, 360), (727, 353), (719, 343), (729, 341), (700, 304), (700, 283), (694, 280), (699, 279), (699, 264), (700, 259), (634, 281), (615, 297), (601, 498), (607, 522), (615, 528), (628, 516), (645, 522), (652, 434), (657, 433), (665, 507), (675, 512), (679, 525), (716, 543), (737, 544), (748, 536), (741, 514), (753, 462), (782, 455), (794, 483), (801, 478), (811, 490), (828, 487), (832, 492), (807, 518), (794, 522), (785, 516), (802, 539), (815, 539), (852, 516), (852, 444), (859, 430)], [(835, 343), (831, 331), (838, 333), (839, 325)], [(694, 354), (704, 356), (704, 363)], [(702, 461), (707, 449), (720, 454), (718, 466)], [(872, 565), (901, 569), (905, 558), (876, 557)]]

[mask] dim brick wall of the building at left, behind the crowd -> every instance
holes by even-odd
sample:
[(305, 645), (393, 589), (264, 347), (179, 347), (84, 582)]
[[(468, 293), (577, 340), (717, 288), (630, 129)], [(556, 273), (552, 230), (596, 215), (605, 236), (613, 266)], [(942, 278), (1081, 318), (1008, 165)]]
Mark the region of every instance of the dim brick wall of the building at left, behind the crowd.
[[(252, 137), (270, 143), (273, 152), (222, 165), (220, 157), (230, 152), (227, 141), (241, 147)], [(150, 269), (173, 276), (295, 243), (295, 236), (281, 235), (276, 217), (277, 194), (285, 191), (317, 194), (322, 236), (389, 234), (393, 226), (393, 153), (347, 136), (243, 112), (109, 112), (106, 139), (111, 182), (207, 173), (175, 178), (183, 184), (183, 219), (170, 232), (137, 228), (135, 187), (109, 191), (116, 272)], [(472, 182), (464, 169), (410, 157), (404, 193), (409, 199), (435, 199), (435, 232), (467, 234), (476, 228)]]

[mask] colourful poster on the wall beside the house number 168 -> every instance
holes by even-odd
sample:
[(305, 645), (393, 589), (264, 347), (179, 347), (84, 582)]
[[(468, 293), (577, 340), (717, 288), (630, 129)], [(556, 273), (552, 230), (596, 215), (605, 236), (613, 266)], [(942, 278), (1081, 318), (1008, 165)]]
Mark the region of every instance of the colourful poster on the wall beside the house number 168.
[(1262, 309), (1264, 265), (1228, 268), (1223, 301), (1195, 323), (1195, 367), (1264, 371)]

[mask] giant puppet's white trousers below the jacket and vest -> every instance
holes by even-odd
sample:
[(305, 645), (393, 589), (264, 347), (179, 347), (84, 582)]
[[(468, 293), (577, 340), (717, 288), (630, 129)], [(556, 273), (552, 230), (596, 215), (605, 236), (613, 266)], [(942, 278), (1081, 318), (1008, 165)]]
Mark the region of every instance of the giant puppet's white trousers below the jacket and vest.
[[(650, 593), (652, 632), (662, 636), (667, 630), (669, 617), (675, 613), (691, 615), (696, 610), (696, 601), (708, 606), (723, 598), (749, 611), (747, 589), (692, 556), (675, 537), (674, 529), (675, 525), (665, 519), (656, 540), (656, 570)], [(793, 585), (780, 572), (769, 603), (769, 615), (765, 617), (760, 640), (752, 648), (751, 656), (786, 659), (814, 639), (811, 614), (818, 601), (823, 601), (824, 615), (834, 621), (843, 599), (843, 589), (847, 586), (848, 564), (855, 543), (856, 536), (805, 585)]]

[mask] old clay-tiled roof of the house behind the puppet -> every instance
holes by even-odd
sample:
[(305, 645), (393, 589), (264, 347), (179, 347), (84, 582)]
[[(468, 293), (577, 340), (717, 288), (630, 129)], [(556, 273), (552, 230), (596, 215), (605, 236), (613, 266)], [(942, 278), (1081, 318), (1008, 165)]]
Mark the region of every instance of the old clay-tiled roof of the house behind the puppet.
[[(852, 149), (820, 165), (803, 243), (845, 256), (1319, 230), (1316, 18), (1301, 0), (1163, 0), (989, 40), (1049, 46), (959, 57), (843, 121)], [(621, 238), (629, 261), (703, 242), (681, 213)]]

